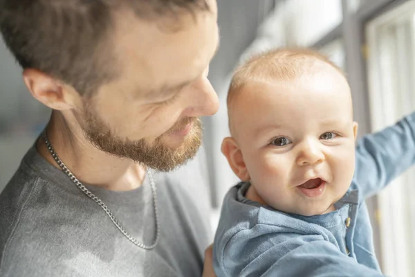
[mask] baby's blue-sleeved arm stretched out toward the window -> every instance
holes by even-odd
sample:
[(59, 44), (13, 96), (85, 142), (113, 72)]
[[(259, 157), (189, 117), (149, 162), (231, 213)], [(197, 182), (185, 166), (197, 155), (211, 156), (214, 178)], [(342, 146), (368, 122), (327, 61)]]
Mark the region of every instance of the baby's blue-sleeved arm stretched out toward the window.
[(385, 188), (415, 163), (415, 113), (393, 126), (364, 136), (356, 147), (353, 181), (364, 197)]

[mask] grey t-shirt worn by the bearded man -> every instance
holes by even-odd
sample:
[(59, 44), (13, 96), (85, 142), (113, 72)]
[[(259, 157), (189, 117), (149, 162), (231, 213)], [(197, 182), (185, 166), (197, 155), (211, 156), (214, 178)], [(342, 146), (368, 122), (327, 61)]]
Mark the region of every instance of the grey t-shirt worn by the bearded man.
[[(0, 195), (0, 276), (201, 276), (212, 242), (205, 155), (154, 175), (160, 240), (137, 247), (62, 171), (31, 148)], [(140, 242), (154, 240), (146, 178), (128, 192), (86, 186)]]

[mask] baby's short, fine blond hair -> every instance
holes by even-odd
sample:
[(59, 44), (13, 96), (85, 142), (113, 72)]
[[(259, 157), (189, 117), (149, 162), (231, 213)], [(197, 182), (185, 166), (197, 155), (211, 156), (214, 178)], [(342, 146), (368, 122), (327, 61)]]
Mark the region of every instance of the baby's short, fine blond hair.
[(324, 64), (332, 66), (344, 75), (342, 69), (326, 56), (309, 48), (277, 48), (250, 57), (237, 67), (230, 82), (227, 98), (230, 133), (233, 133), (232, 102), (243, 86), (250, 82), (293, 80), (305, 74), (321, 71)]

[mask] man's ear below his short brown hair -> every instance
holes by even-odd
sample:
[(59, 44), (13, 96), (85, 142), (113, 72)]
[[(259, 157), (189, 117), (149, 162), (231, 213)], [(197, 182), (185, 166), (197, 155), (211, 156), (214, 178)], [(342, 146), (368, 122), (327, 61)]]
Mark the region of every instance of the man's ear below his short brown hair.
[(73, 109), (75, 106), (73, 96), (79, 96), (75, 90), (71, 91), (62, 82), (37, 69), (25, 69), (23, 80), (32, 96), (51, 109), (59, 111)]

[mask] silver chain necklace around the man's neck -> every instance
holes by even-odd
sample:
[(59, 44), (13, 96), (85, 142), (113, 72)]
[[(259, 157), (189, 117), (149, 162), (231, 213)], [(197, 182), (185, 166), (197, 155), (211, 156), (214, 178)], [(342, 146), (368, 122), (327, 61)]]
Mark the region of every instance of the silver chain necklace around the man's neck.
[(65, 166), (65, 164), (63, 163), (63, 161), (61, 161), (61, 159), (59, 159), (59, 157), (57, 156), (55, 150), (53, 150), (53, 147), (52, 147), (52, 145), (50, 144), (50, 142), (48, 140), (48, 136), (46, 135), (46, 129), (43, 132), (43, 137), (44, 137), (44, 141), (46, 143), (46, 146), (48, 147), (48, 150), (49, 150), (50, 154), (52, 155), (53, 159), (55, 159), (56, 163), (60, 166), (60, 168), (62, 168), (62, 170), (66, 173), (66, 175), (68, 175), (68, 177), (73, 181), (73, 183), (75, 183), (75, 185), (78, 188), (80, 188), (80, 190), (82, 190), (82, 193), (86, 194), (89, 198), (93, 199), (93, 201), (95, 201), (98, 205), (101, 206), (101, 208), (105, 211), (105, 213), (107, 213), (109, 218), (111, 218), (113, 224), (116, 225), (116, 227), (121, 231), (121, 233), (123, 235), (125, 235), (125, 237), (127, 237), (131, 242), (133, 242), (133, 244), (136, 244), (136, 246), (138, 246), (142, 249), (149, 250), (149, 249), (153, 249), (154, 247), (156, 247), (156, 244), (158, 242), (158, 236), (160, 234), (160, 226), (158, 224), (156, 183), (154, 182), (153, 174), (152, 174), (151, 170), (147, 170), (147, 175), (149, 176), (149, 181), (150, 181), (150, 185), (151, 185), (151, 193), (153, 195), (154, 217), (155, 217), (155, 221), (156, 221), (156, 238), (154, 238), (153, 244), (145, 245), (142, 242), (139, 242), (138, 240), (133, 238), (131, 235), (129, 235), (129, 233), (127, 233), (127, 231), (125, 231), (124, 227), (121, 226), (120, 222), (118, 222), (118, 220), (113, 215), (113, 213), (111, 213), (111, 211), (109, 210), (107, 205), (105, 205), (104, 202), (102, 202), (100, 198), (96, 197), (93, 193), (91, 193), (91, 191), (89, 191), (88, 188), (86, 188), (84, 185), (82, 185), (82, 183), (72, 174), (71, 170), (69, 170)]

